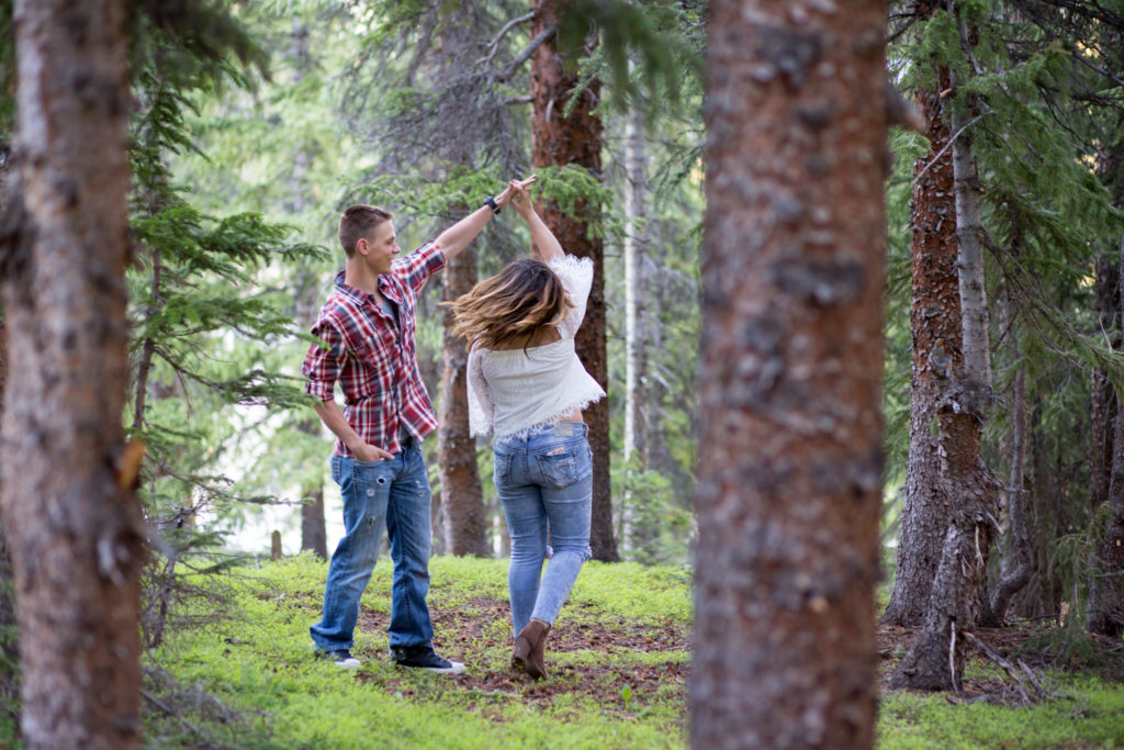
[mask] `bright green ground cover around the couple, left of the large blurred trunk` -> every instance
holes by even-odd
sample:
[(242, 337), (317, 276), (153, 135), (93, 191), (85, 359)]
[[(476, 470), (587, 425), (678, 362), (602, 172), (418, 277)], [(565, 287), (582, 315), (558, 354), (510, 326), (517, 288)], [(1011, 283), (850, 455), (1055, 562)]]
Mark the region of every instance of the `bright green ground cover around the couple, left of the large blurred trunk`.
[[(389, 603), (389, 564), (381, 561), (375, 580), (364, 597), (364, 607)], [(481, 596), (506, 588), (506, 566), (495, 560), (434, 558), (430, 603), (464, 608)], [(618, 578), (623, 572), (624, 578)], [(359, 675), (317, 660), (308, 648), (308, 625), (319, 612), (326, 564), (308, 555), (243, 569), (232, 577), (239, 615), (226, 623), (199, 626), (170, 640), (154, 658), (185, 688), (203, 689), (212, 699), (238, 712), (239, 720), (219, 722), (205, 712), (184, 710), (199, 735), (152, 712), (148, 720), (153, 747), (194, 747), (207, 741), (216, 747), (365, 747), (378, 737), (386, 747), (682, 747), (683, 704), (681, 688), (658, 695), (629, 689), (629, 705), (602, 706), (586, 696), (589, 686), (568, 685), (549, 704), (535, 701), (534, 686), (505, 692), (466, 688), (456, 678), (416, 675), (386, 662), (386, 635), (361, 630), (354, 651), (364, 658)], [(687, 580), (676, 570), (591, 564), (579, 587), (589, 584), (593, 597), (575, 589), (577, 602), (592, 603), (592, 616), (629, 621), (689, 617)], [(652, 586), (662, 604), (637, 612), (624, 587)], [(456, 634), (442, 632), (436, 640), (450, 643)], [(506, 642), (506, 638), (505, 638)], [(471, 653), (472, 643), (463, 648)], [(500, 649), (499, 651), (505, 651)], [(616, 657), (589, 652), (580, 659), (611, 660)], [(686, 654), (647, 654), (678, 660)], [(620, 658), (628, 659), (628, 654)], [(506, 652), (468, 658), (472, 669), (509, 667)], [(653, 661), (653, 663), (660, 663)], [(563, 679), (555, 677), (552, 679)], [(622, 694), (625, 685), (615, 689)], [(643, 705), (642, 705), (643, 704)], [(620, 711), (627, 712), (622, 716)]]

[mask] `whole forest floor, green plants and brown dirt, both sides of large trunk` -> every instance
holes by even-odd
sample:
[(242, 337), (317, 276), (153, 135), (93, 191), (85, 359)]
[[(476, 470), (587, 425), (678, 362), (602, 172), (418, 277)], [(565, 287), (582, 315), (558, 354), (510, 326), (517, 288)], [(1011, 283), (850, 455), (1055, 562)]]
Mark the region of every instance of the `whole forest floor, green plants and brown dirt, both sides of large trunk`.
[[(384, 560), (361, 607), (353, 652), (363, 667), (345, 671), (315, 659), (308, 625), (319, 614), (326, 571), (305, 555), (241, 569), (224, 595), (196, 599), (183, 612), (196, 624), (170, 623), (175, 634), (146, 670), (147, 747), (688, 744), (688, 570), (587, 566), (551, 632), (550, 676), (538, 683), (510, 667), (506, 561), (433, 560), (434, 640), (441, 653), (466, 663), (459, 676), (389, 661)], [(1035, 693), (1024, 706), (1014, 680), (981, 654), (955, 695), (889, 689), (914, 634), (879, 629), (879, 748), (1124, 747), (1124, 658), (1111, 651), (1120, 644), (1062, 660), (1052, 623), (980, 632), (1041, 683), (1044, 697)]]

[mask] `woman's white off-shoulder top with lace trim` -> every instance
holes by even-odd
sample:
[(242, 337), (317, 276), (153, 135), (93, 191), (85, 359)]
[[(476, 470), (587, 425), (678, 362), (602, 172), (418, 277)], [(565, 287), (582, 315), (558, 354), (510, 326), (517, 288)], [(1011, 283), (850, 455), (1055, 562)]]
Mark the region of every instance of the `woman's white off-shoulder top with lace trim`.
[(526, 434), (605, 396), (573, 345), (593, 286), (593, 261), (560, 255), (547, 265), (573, 302), (558, 328), (562, 337), (526, 351), (473, 347), (469, 352), (469, 426), (473, 435), (489, 431), (497, 436)]

